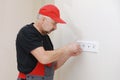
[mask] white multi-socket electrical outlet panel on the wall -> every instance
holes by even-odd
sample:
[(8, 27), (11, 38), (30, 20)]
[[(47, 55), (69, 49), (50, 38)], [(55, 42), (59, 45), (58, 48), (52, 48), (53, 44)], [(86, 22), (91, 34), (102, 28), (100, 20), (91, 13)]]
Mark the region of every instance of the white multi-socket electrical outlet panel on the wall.
[(77, 41), (82, 48), (82, 51), (98, 52), (98, 42), (96, 41)]

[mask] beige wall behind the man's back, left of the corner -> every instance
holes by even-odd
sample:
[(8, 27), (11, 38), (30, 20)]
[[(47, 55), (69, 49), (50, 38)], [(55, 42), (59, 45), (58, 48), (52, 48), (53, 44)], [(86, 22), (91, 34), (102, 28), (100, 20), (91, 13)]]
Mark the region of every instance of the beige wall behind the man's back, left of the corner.
[[(0, 79), (16, 80), (15, 39), (18, 30), (35, 20), (47, 0), (0, 0)], [(49, 3), (53, 3), (49, 1)]]

